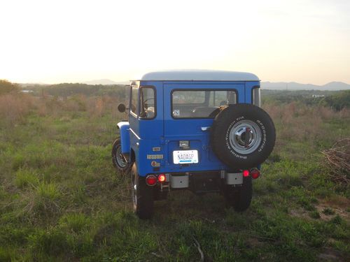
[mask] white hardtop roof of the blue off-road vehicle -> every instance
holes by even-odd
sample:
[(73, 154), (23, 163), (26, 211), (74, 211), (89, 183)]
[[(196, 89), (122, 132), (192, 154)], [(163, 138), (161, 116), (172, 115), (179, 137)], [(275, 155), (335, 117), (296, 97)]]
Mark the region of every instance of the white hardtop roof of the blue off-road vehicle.
[(146, 73), (138, 80), (154, 81), (260, 81), (253, 73), (218, 70), (174, 70)]

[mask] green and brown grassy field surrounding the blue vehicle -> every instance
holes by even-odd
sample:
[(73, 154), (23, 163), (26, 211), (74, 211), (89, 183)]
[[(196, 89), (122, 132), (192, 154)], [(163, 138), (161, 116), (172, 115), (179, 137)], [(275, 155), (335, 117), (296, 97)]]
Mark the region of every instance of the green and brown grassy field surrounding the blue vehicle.
[(155, 217), (132, 212), (130, 177), (111, 164), (117, 101), (0, 96), (0, 261), (349, 261), (349, 188), (321, 150), (350, 137), (350, 111), (265, 110), (276, 147), (251, 208), (172, 191)]

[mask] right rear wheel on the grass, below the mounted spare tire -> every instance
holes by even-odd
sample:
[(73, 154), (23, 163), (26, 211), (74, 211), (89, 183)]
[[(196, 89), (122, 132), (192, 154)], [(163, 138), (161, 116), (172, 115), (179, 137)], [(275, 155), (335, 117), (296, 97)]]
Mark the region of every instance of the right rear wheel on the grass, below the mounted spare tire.
[(241, 187), (226, 186), (224, 192), (226, 201), (228, 201), (228, 204), (237, 212), (242, 212), (249, 208), (252, 195), (253, 184), (251, 182), (251, 177), (244, 177)]

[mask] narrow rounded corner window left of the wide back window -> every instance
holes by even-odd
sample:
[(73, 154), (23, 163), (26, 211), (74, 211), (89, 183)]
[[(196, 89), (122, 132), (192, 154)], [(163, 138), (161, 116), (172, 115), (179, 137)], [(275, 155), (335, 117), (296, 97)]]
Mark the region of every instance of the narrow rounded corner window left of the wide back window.
[(155, 117), (155, 89), (141, 87), (140, 92), (140, 118), (153, 119)]

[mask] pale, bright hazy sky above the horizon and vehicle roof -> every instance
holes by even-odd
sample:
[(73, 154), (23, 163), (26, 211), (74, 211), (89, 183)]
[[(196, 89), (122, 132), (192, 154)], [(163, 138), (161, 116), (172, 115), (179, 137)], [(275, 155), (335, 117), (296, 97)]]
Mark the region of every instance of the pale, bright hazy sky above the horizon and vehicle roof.
[(0, 79), (126, 81), (181, 68), (350, 83), (349, 0), (1, 0)]

